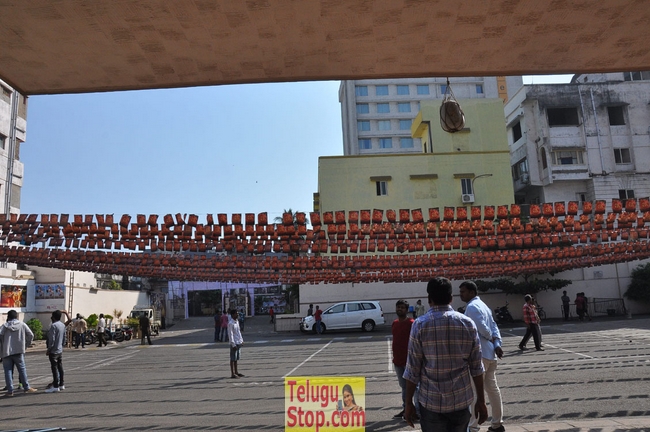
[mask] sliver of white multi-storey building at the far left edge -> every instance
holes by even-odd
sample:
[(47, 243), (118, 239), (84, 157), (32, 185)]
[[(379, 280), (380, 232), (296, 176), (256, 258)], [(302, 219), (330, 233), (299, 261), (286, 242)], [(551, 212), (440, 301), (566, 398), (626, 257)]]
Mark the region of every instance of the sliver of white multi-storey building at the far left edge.
[[(20, 145), (25, 142), (27, 130), (27, 99), (0, 80), (0, 199), (2, 213), (20, 213), (20, 191), (23, 187), (23, 164)], [(11, 146), (11, 101), (18, 96), (16, 110), (16, 145)], [(13, 167), (9, 162), (13, 161)], [(11, 176), (11, 178), (9, 178)], [(7, 189), (9, 187), (9, 190)], [(9, 192), (9, 194), (8, 194)], [(10, 198), (10, 199), (9, 199)], [(9, 202), (10, 201), (10, 202)]]

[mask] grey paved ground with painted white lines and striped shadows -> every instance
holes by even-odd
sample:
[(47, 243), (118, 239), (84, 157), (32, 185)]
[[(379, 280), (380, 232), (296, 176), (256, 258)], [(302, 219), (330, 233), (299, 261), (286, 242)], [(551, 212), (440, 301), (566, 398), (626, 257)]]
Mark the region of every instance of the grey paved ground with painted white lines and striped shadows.
[[(238, 380), (230, 378), (227, 344), (211, 342), (210, 326), (211, 318), (195, 318), (153, 346), (66, 350), (66, 390), (0, 398), (1, 427), (283, 430), (284, 377), (335, 375), (366, 378), (366, 430), (413, 430), (392, 418), (400, 396), (389, 326), (316, 337), (274, 333), (265, 318), (249, 319), (239, 364), (246, 377)], [(650, 422), (650, 319), (547, 324), (539, 353), (517, 349), (523, 327), (502, 331), (498, 379), (508, 431), (650, 430), (643, 424)], [(30, 383), (43, 389), (50, 381), (44, 352), (30, 352), (27, 364)]]

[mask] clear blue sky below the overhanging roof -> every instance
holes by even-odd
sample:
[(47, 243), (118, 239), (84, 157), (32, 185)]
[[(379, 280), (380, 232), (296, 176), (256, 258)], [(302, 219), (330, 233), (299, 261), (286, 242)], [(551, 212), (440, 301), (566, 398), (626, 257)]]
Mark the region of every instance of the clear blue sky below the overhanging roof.
[[(524, 77), (568, 82), (571, 75)], [(29, 98), (23, 213), (309, 212), (338, 81)]]

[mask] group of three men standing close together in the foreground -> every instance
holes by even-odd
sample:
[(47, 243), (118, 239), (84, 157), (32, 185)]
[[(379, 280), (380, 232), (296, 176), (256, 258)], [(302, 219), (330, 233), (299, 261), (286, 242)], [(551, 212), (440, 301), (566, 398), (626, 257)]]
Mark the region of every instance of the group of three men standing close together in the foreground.
[[(452, 285), (442, 277), (429, 281), (428, 311), (399, 300), (393, 322), (393, 366), (402, 388), (403, 409), (395, 415), (423, 432), (478, 431), (487, 420), (487, 393), (492, 408), (490, 432), (504, 432), (503, 403), (496, 369), (502, 358), (501, 333), (476, 284), (463, 282), (465, 313), (451, 307)], [(431, 373), (436, 371), (436, 373)]]

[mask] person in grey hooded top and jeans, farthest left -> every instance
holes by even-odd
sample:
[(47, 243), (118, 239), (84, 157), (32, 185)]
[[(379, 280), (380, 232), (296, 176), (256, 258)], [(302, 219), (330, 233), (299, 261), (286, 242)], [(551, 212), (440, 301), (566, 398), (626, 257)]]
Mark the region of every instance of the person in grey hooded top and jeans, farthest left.
[(22, 321), (18, 320), (18, 312), (11, 309), (7, 312), (7, 322), (0, 327), (0, 357), (5, 373), (7, 393), (5, 396), (14, 395), (13, 371), (18, 369), (19, 382), (23, 385), (25, 393), (34, 393), (35, 388), (29, 386), (27, 381), (27, 368), (25, 367), (25, 350), (34, 340), (34, 333)]

